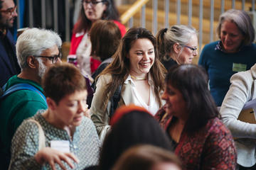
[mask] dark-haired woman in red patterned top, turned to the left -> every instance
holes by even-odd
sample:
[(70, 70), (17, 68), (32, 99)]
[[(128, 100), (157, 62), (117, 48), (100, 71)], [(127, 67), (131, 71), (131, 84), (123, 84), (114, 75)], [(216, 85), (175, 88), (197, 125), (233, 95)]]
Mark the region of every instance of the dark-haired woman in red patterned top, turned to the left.
[(208, 90), (208, 76), (193, 64), (169, 69), (156, 118), (168, 133), (186, 169), (235, 169), (237, 154), (230, 131)]

